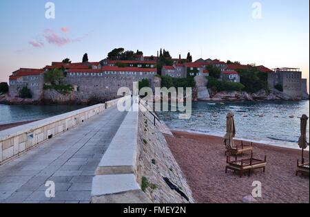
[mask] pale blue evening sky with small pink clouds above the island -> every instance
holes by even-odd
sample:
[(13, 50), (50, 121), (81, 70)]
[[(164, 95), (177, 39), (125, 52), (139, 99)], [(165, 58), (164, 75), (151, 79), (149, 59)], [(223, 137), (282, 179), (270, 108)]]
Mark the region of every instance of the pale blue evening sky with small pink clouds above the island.
[(309, 0), (0, 0), (0, 26), (5, 82), (20, 67), (81, 62), (85, 53), (99, 61), (115, 47), (298, 67), (309, 78)]

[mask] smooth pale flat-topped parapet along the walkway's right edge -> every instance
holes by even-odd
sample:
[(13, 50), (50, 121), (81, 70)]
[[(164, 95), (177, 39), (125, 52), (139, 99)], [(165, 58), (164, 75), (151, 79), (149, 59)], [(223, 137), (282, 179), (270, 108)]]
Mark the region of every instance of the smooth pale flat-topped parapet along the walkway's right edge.
[(96, 169), (92, 203), (150, 203), (136, 181), (137, 142), (138, 103), (134, 103)]

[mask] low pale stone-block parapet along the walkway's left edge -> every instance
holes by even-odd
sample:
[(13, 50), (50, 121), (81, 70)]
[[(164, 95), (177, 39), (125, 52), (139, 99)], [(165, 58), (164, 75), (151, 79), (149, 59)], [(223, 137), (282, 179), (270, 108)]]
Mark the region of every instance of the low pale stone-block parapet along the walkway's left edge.
[(21, 155), (52, 137), (70, 130), (105, 110), (105, 104), (97, 104), (62, 115), (42, 119), (0, 132), (0, 164)]

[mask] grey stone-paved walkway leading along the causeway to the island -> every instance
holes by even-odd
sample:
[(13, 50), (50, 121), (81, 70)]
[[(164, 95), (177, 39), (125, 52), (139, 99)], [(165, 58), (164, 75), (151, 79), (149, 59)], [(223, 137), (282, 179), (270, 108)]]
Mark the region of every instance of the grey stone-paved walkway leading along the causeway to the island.
[[(90, 203), (94, 171), (126, 113), (112, 108), (0, 165), (0, 203)], [(54, 198), (45, 197), (54, 181)]]

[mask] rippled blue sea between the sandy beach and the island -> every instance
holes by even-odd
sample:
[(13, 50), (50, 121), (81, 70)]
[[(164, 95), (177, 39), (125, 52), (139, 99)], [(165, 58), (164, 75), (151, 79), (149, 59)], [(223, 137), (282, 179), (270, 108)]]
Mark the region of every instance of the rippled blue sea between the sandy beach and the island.
[[(225, 135), (226, 114), (234, 112), (236, 137), (275, 146), (298, 148), (300, 117), (309, 117), (309, 101), (303, 102), (196, 102), (191, 119), (178, 119), (179, 113), (159, 113), (172, 130), (207, 135)], [(293, 115), (293, 117), (289, 117)], [(307, 126), (309, 141), (309, 121)]]

